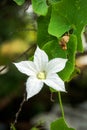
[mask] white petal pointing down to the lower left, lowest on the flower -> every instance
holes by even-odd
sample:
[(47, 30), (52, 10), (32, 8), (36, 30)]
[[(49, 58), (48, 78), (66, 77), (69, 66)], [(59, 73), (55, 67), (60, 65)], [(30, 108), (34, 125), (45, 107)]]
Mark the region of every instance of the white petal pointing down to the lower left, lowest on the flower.
[(38, 94), (43, 87), (43, 82), (36, 78), (30, 77), (26, 82), (27, 99)]

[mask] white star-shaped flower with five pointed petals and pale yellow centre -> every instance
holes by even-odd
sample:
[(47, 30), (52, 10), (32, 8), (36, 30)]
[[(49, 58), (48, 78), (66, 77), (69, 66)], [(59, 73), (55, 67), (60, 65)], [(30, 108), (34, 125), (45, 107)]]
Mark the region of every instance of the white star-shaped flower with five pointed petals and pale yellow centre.
[(39, 93), (44, 83), (57, 91), (65, 91), (64, 82), (56, 73), (65, 67), (66, 62), (67, 59), (62, 58), (49, 61), (47, 54), (37, 47), (33, 62), (14, 63), (20, 72), (29, 76), (26, 82), (27, 99)]

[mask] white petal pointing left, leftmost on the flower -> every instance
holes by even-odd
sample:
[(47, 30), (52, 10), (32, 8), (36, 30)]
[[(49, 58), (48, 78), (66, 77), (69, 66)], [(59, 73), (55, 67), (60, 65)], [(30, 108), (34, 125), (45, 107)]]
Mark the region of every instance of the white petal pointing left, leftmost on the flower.
[(36, 68), (32, 61), (21, 61), (19, 63), (13, 63), (20, 72), (30, 76), (36, 74)]

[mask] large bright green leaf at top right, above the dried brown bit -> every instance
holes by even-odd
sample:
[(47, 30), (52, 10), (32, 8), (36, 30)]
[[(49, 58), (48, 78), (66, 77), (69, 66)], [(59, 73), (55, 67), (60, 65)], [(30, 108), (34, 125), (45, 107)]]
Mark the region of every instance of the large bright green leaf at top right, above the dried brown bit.
[(82, 51), (81, 33), (87, 24), (87, 0), (62, 0), (53, 4), (49, 33), (60, 37), (73, 29), (77, 36), (77, 50)]

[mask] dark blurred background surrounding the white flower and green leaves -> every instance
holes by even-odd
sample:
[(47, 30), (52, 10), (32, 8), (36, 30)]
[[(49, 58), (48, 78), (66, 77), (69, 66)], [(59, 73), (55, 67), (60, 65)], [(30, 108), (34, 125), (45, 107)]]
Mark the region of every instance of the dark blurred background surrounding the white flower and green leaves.
[[(10, 130), (25, 93), (27, 76), (12, 62), (28, 60), (36, 48), (37, 17), (30, 4), (29, 0), (23, 6), (17, 6), (12, 0), (0, 1), (0, 130)], [(76, 55), (80, 74), (65, 83), (68, 93), (62, 93), (67, 122), (77, 130), (87, 130), (86, 37), (87, 29), (82, 36), (84, 53)], [(24, 102), (15, 127), (16, 130), (30, 130), (33, 126), (36, 130), (49, 130), (50, 122), (60, 116), (57, 94), (44, 87)]]

